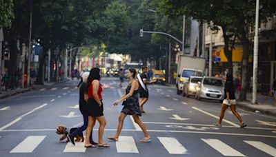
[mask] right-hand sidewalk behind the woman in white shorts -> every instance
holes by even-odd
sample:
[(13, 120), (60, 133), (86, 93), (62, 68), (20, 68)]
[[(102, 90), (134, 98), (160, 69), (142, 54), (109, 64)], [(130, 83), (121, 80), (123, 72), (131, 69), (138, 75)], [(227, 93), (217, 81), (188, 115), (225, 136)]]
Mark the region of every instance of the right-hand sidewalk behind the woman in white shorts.
[[(236, 98), (238, 99), (239, 96), (236, 95)], [(251, 103), (252, 93), (247, 93), (246, 98), (248, 101), (237, 101), (238, 107), (248, 109), (248, 110), (256, 112), (256, 113), (262, 113), (262, 114), (276, 116), (276, 105), (274, 103), (273, 96), (257, 94), (257, 103), (258, 104)]]

